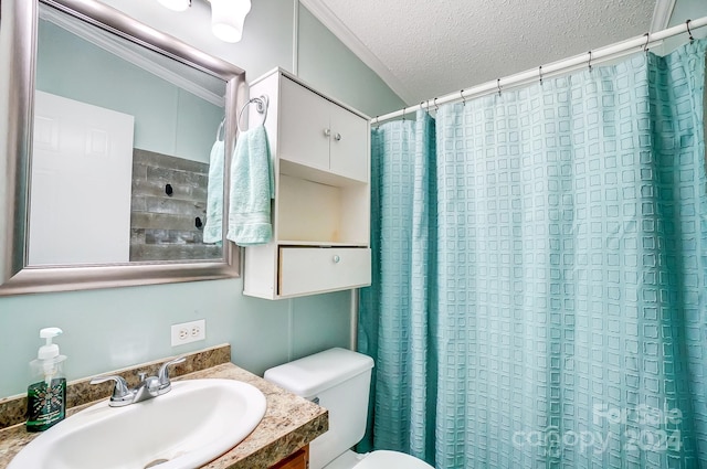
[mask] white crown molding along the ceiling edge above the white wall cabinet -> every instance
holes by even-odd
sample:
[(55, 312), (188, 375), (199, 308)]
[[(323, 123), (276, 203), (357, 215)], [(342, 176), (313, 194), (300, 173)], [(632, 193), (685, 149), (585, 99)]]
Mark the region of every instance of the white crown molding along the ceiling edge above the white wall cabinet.
[(390, 68), (368, 49), (356, 34), (321, 0), (299, 0), (299, 2), (331, 33), (339, 39), (357, 57), (372, 70), (407, 104), (414, 99)]

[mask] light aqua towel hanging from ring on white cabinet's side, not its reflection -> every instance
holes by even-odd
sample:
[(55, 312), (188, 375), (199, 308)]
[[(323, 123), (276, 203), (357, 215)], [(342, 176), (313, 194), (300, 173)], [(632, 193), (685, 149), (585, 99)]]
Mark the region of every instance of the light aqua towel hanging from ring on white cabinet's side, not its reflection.
[(267, 244), (273, 237), (270, 220), (275, 181), (267, 134), (262, 125), (241, 134), (231, 161), (229, 231), (239, 246)]

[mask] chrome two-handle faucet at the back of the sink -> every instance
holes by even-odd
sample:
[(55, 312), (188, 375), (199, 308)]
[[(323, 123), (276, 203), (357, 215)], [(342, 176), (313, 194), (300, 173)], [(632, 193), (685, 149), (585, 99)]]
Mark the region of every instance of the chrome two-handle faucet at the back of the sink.
[(159, 367), (157, 376), (147, 377), (147, 373), (140, 373), (138, 375), (140, 379), (140, 383), (134, 388), (129, 388), (125, 379), (118, 375), (96, 377), (91, 381), (91, 384), (105, 383), (106, 381), (115, 382), (113, 395), (110, 396), (110, 402), (108, 403), (110, 407), (123, 407), (126, 405), (136, 404), (169, 393), (169, 391), (172, 388), (172, 383), (169, 380), (169, 366), (181, 363), (184, 360), (186, 359), (183, 356), (180, 356), (162, 364)]

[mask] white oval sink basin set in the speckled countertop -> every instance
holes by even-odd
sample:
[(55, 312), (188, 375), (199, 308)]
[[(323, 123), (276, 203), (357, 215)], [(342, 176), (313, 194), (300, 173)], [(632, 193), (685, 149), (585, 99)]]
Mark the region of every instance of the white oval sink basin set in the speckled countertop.
[(8, 469), (198, 468), (241, 443), (265, 414), (265, 396), (233, 380), (173, 382), (125, 407), (93, 405), (32, 440)]

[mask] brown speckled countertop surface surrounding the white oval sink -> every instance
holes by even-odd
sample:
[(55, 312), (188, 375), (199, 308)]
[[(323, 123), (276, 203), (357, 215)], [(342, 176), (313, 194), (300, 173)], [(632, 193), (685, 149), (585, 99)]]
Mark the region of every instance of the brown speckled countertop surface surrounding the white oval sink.
[[(268, 468), (309, 444), (328, 429), (328, 412), (299, 396), (256, 376), (232, 363), (223, 363), (182, 375), (175, 381), (196, 379), (238, 380), (257, 387), (267, 399), (261, 423), (238, 446), (203, 466), (209, 469)], [(95, 404), (84, 404), (67, 411), (71, 415)], [(28, 433), (23, 424), (0, 430), (0, 469), (39, 434)]]

